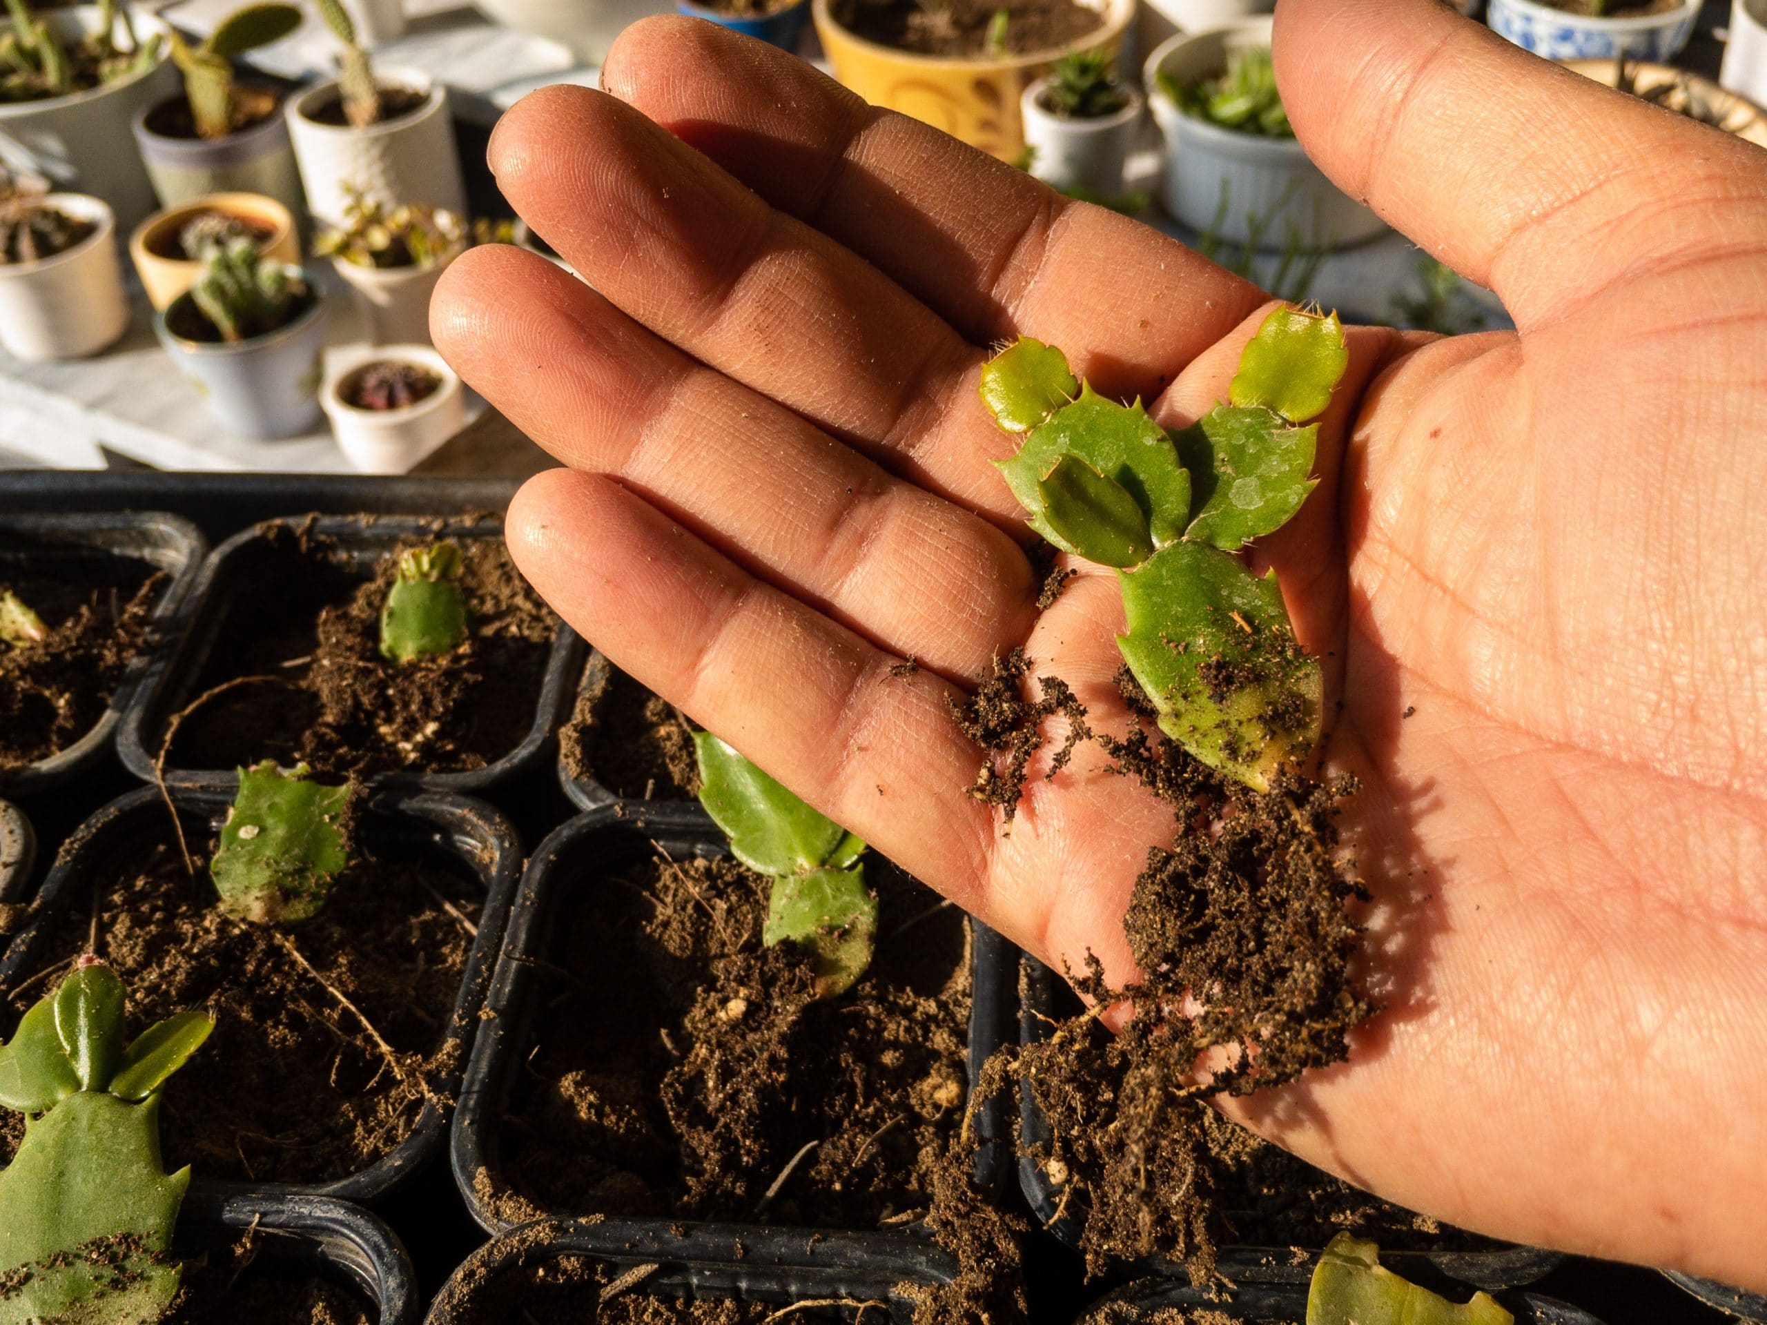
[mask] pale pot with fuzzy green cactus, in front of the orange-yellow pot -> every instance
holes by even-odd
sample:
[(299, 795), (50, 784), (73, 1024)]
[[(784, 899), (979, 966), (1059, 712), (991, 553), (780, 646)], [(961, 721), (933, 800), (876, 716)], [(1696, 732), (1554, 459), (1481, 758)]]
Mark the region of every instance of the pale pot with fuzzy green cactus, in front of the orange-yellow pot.
[[(313, 286), (311, 277), (304, 272), (302, 277)], [(286, 327), (237, 344), (193, 341), (171, 330), (168, 322), (187, 302), (189, 295), (182, 295), (159, 313), (154, 332), (178, 369), (196, 383), (216, 420), (239, 436), (311, 433), (320, 422), (323, 297)]]

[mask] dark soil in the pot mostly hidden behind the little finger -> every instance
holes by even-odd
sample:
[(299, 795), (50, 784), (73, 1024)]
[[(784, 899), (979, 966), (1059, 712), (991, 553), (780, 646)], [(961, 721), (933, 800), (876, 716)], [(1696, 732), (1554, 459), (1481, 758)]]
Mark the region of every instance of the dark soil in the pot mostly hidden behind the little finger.
[(573, 777), (592, 777), (624, 800), (693, 800), (700, 793), (687, 716), (618, 668), (576, 696), (576, 710), (558, 731), (558, 753)]

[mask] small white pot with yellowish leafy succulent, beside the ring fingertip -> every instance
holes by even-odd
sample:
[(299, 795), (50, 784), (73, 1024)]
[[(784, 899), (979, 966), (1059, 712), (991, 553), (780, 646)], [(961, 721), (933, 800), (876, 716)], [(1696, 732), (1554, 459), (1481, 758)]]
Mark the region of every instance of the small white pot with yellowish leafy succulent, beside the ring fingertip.
[(322, 231), (313, 251), (332, 258), (355, 293), (371, 344), (428, 344), (429, 297), (466, 242), (458, 212), (383, 203), (350, 187), (343, 224)]

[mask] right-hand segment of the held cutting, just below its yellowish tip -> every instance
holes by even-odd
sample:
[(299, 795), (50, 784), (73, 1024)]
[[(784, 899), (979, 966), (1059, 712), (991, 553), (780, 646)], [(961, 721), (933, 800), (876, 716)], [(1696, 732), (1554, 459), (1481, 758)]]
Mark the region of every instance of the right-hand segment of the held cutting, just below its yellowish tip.
[(1262, 405), (1221, 405), (1179, 433), (1196, 482), (1196, 518), (1184, 537), (1225, 551), (1274, 534), (1316, 486), (1318, 424), (1290, 428)]

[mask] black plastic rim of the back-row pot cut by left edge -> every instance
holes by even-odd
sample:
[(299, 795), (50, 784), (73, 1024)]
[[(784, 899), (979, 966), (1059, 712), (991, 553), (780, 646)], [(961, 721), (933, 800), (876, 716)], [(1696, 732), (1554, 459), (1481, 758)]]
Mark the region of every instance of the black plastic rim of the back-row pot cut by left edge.
[[(72, 505), (64, 500), (62, 511)], [(0, 579), (23, 567), (94, 564), (115, 556), (147, 562), (166, 572), (166, 583), (148, 617), (148, 641), (124, 673), (99, 721), (67, 749), (18, 768), (0, 772), (0, 791), (32, 797), (65, 786), (101, 765), (131, 696), (177, 643), (186, 620), (186, 601), (207, 542), (182, 516), (163, 511), (76, 514), (0, 514)]]

